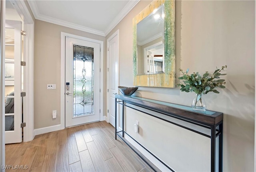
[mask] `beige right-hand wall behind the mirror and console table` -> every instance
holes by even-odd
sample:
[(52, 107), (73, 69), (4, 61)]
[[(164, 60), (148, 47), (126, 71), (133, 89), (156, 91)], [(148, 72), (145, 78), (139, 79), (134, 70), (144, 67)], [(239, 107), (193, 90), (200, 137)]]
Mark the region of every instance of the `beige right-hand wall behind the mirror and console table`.
[[(149, 3), (140, 1), (106, 36), (108, 39), (119, 29), (119, 85), (132, 86), (132, 18)], [(216, 66), (228, 66), (224, 77), (226, 89), (219, 90), (220, 94), (211, 92), (205, 96), (208, 109), (224, 113), (224, 171), (254, 171), (254, 12), (254, 1), (176, 1), (177, 82), (179, 68), (203, 73), (213, 72)], [(188, 106), (194, 97), (194, 93), (180, 92), (179, 88), (140, 87), (135, 95)], [(126, 130), (132, 132), (135, 120), (140, 121), (142, 132), (131, 134), (160, 158), (167, 161), (170, 157), (182, 158), (182, 154), (191, 156), (196, 150), (200, 160), (204, 158), (206, 163), (196, 171), (209, 168), (209, 152), (205, 151), (210, 146), (204, 137), (192, 138), (188, 131), (138, 113), (130, 113), (126, 118)], [(164, 130), (166, 132), (162, 132)], [(152, 131), (155, 133), (149, 133)], [(172, 146), (176, 152), (166, 153)], [(194, 169), (190, 162), (191, 169), (185, 169), (187, 166), (179, 162), (168, 161), (168, 164), (175, 170)]]

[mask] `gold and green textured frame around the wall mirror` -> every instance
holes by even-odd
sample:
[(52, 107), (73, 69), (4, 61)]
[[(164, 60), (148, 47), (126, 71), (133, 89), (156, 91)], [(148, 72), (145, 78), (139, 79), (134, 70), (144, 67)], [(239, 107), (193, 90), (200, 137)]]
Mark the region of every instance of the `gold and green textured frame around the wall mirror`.
[[(164, 4), (164, 73), (137, 75), (137, 24)], [(154, 0), (132, 20), (133, 24), (133, 85), (175, 87), (175, 1)]]

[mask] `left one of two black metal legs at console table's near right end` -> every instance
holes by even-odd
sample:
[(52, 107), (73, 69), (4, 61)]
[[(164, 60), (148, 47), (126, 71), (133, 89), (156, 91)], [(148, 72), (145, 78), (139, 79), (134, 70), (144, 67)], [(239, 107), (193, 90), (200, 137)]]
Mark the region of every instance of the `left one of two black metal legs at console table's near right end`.
[(211, 126), (211, 172), (215, 172), (216, 126)]

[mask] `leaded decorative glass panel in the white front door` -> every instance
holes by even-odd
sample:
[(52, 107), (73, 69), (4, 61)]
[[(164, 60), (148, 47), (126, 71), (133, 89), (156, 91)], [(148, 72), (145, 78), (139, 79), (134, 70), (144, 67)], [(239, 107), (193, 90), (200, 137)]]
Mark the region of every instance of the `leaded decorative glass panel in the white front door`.
[(73, 117), (93, 114), (94, 48), (74, 47), (74, 114)]

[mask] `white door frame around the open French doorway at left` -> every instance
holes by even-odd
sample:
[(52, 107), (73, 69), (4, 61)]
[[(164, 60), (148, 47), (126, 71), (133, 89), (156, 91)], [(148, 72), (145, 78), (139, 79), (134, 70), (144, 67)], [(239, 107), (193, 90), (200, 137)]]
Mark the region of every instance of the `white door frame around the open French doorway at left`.
[[(34, 138), (34, 20), (24, 1), (11, 1), (18, 14), (23, 16), (24, 28), (27, 36), (24, 44), (24, 60), (26, 69), (24, 69), (24, 90), (26, 89), (26, 98), (24, 97), (24, 127), (23, 141), (28, 142)], [(5, 34), (5, 1), (0, 1), (0, 112), (4, 114), (4, 34)], [(5, 118), (0, 115), (0, 163), (5, 164)], [(5, 171), (1, 169), (1, 171)]]

